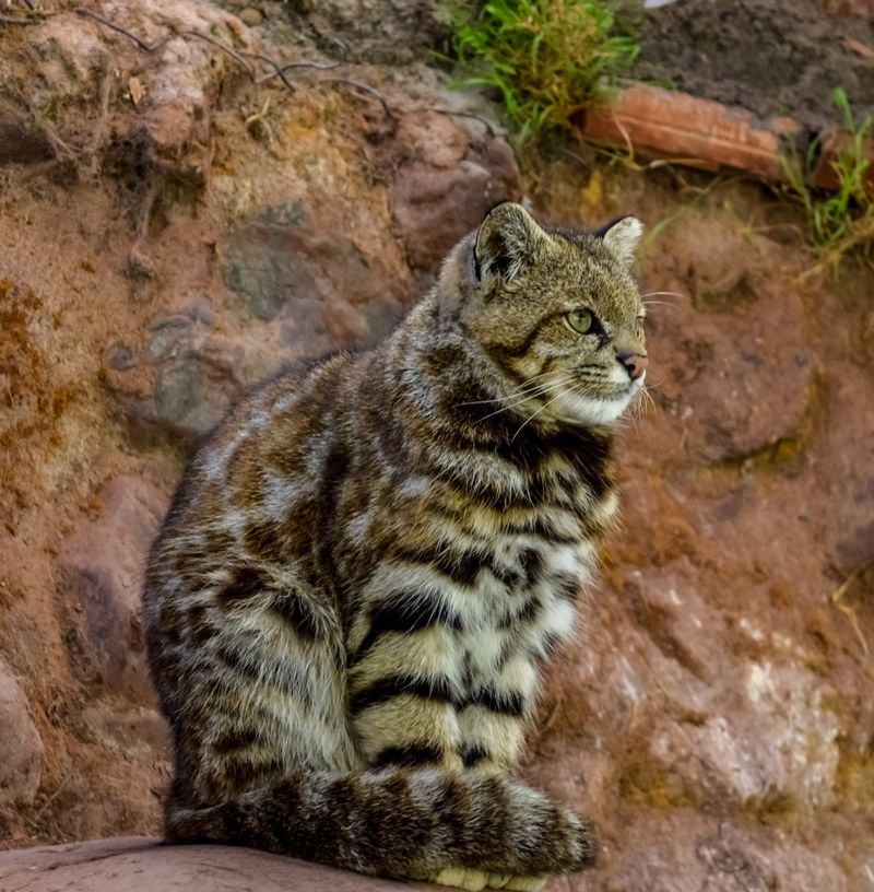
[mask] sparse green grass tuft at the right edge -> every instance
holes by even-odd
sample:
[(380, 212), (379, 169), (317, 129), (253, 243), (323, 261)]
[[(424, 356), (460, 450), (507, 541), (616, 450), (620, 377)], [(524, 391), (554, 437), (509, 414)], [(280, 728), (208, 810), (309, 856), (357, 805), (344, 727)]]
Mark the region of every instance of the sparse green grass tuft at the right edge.
[(857, 121), (847, 93), (836, 87), (831, 93), (840, 114), (840, 126), (847, 143), (835, 155), (832, 166), (838, 188), (825, 193), (808, 185), (822, 151), (817, 137), (806, 153), (781, 157), (790, 197), (801, 203), (807, 219), (807, 238), (812, 247), (829, 263), (839, 263), (847, 255), (874, 260), (874, 193), (865, 185), (871, 162), (865, 144), (872, 136), (872, 119)]

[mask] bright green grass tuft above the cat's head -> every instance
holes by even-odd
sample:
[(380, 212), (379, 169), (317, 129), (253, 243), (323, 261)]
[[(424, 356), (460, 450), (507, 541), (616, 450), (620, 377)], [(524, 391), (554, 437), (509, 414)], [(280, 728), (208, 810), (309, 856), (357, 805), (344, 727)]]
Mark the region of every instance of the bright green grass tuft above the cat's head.
[(522, 140), (566, 130), (602, 102), (640, 49), (601, 0), (492, 0), (446, 8), (461, 86), (501, 96)]

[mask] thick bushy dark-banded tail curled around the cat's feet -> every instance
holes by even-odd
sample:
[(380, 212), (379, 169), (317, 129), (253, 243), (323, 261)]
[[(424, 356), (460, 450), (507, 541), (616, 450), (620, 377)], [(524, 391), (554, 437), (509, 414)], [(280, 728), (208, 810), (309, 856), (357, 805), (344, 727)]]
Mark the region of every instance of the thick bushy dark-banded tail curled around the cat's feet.
[(291, 775), (202, 809), (167, 809), (175, 843), (226, 843), (361, 873), (535, 876), (594, 861), (591, 828), (543, 793), (474, 772)]

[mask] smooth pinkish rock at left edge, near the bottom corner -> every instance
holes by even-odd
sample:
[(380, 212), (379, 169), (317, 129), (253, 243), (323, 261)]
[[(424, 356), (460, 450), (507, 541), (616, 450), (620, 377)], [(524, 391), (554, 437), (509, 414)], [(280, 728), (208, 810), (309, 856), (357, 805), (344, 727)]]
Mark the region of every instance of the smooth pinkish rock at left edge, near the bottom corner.
[(28, 806), (43, 773), (44, 747), (27, 700), (0, 657), (0, 810)]

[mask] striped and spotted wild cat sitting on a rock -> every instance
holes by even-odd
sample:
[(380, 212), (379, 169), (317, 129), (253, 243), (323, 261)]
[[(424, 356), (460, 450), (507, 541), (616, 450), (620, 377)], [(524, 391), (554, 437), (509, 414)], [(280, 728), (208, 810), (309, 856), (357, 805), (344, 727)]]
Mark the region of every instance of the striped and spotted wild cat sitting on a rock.
[(641, 232), (501, 203), (382, 343), (203, 444), (143, 596), (168, 841), (470, 890), (593, 862), (589, 822), (511, 772), (616, 508)]

